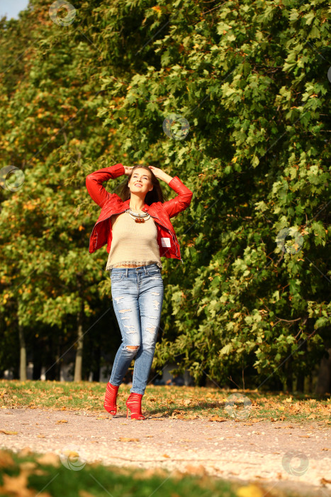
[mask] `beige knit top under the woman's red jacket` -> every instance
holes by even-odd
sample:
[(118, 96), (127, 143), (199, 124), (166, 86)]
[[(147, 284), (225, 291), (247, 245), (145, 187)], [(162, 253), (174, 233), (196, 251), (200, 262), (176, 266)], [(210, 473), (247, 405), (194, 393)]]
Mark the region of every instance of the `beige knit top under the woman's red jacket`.
[(157, 244), (157, 226), (150, 217), (145, 223), (136, 223), (128, 212), (111, 216), (113, 239), (108, 254), (106, 271), (123, 264), (157, 264), (162, 269)]

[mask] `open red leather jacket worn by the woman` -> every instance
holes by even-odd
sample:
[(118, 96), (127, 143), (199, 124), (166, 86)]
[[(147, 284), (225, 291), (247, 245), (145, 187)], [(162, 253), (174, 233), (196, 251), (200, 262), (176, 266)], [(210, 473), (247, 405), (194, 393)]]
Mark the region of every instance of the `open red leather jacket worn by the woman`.
[[(92, 229), (89, 240), (89, 252), (93, 253), (107, 244), (107, 252), (111, 250), (111, 216), (125, 212), (130, 207), (130, 199), (123, 200), (116, 193), (107, 192), (102, 186), (103, 181), (109, 178), (118, 178), (125, 174), (122, 164), (112, 165), (110, 168), (103, 168), (86, 176), (86, 188), (91, 199), (101, 207), (99, 219)], [(174, 227), (170, 222), (170, 217), (176, 216), (179, 212), (189, 207), (193, 193), (187, 188), (178, 176), (174, 176), (169, 182), (178, 195), (168, 202), (153, 202), (151, 205), (144, 204), (143, 211), (148, 212), (154, 219), (157, 226), (157, 244), (159, 245), (160, 256), (176, 258), (181, 260), (179, 243), (174, 232)], [(183, 261), (181, 261), (183, 262)]]

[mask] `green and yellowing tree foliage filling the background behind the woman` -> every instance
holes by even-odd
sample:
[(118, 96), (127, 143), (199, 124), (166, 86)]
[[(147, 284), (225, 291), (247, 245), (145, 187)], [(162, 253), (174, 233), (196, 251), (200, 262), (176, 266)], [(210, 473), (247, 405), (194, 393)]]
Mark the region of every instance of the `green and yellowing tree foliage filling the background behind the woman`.
[[(107, 254), (88, 253), (99, 209), (84, 178), (151, 164), (194, 192), (174, 219), (184, 265), (164, 260), (154, 365), (302, 387), (330, 340), (329, 4), (73, 5), (68, 26), (41, 0), (1, 21), (1, 167), (25, 174), (17, 192), (1, 191), (11, 358), (18, 324), (30, 343), (40, 329), (65, 350), (79, 316), (86, 331), (106, 312)], [(189, 122), (186, 137), (178, 120), (175, 138), (164, 133), (172, 114)]]

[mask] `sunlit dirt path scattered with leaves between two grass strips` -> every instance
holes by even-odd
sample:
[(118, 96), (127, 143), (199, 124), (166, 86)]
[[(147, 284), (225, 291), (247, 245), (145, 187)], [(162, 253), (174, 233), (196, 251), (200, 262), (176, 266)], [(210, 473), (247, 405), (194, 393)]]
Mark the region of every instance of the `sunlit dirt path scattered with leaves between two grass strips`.
[(0, 432), (0, 447), (16, 452), (30, 447), (63, 456), (72, 449), (82, 461), (210, 474), (331, 497), (331, 430), (325, 422), (131, 421), (123, 412), (112, 418), (105, 411), (20, 408), (0, 410), (0, 430), (18, 432)]

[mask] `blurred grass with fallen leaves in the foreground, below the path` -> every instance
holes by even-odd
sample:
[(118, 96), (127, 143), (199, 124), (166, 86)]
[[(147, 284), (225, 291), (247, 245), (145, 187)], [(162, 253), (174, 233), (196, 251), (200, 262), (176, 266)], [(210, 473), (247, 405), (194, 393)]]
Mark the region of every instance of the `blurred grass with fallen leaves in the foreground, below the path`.
[[(179, 471), (143, 470), (80, 463), (78, 454), (67, 454), (64, 464), (78, 462), (79, 470), (68, 469), (55, 454), (15, 454), (0, 450), (1, 496), (33, 497), (296, 497), (293, 492), (259, 483), (238, 484), (207, 474), (191, 476)], [(63, 456), (62, 456), (63, 458)], [(67, 464), (67, 466), (70, 464)], [(75, 466), (77, 467), (77, 466)], [(16, 488), (16, 491), (13, 491)], [(41, 493), (39, 493), (41, 492)]]

